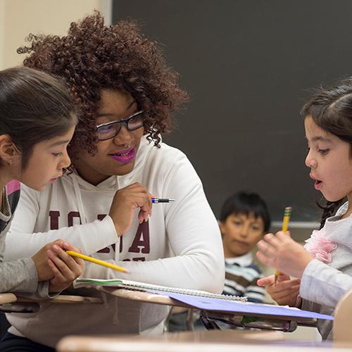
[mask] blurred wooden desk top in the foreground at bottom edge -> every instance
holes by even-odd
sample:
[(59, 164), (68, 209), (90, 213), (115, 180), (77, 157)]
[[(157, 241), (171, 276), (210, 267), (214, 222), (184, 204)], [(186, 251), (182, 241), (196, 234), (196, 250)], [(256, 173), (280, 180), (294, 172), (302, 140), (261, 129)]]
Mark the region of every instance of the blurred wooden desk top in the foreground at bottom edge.
[[(68, 336), (59, 341), (58, 352), (322, 352), (332, 344), (284, 341), (284, 333), (256, 330), (169, 332), (160, 336)], [(339, 348), (339, 352), (351, 351)]]

